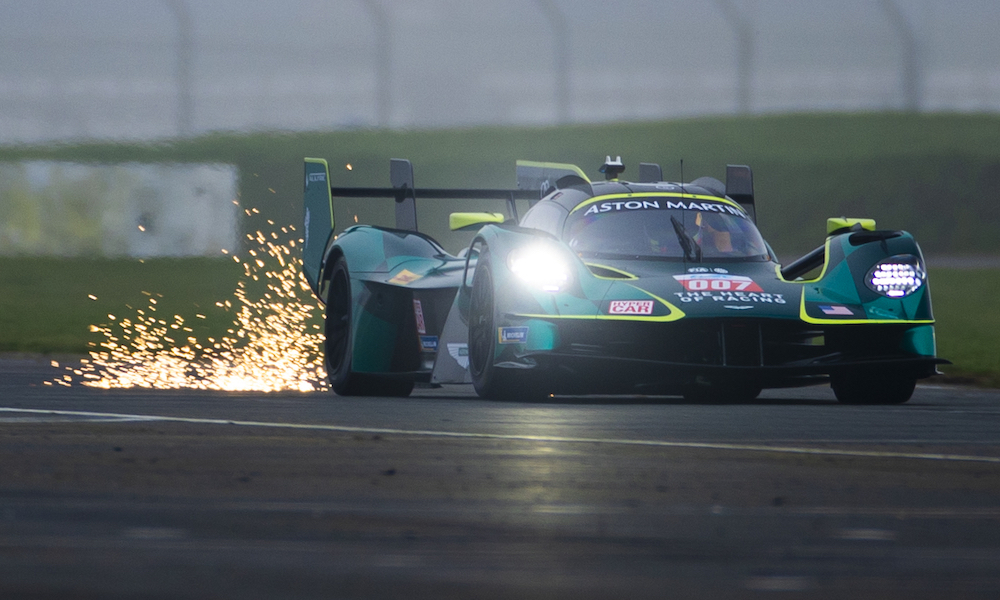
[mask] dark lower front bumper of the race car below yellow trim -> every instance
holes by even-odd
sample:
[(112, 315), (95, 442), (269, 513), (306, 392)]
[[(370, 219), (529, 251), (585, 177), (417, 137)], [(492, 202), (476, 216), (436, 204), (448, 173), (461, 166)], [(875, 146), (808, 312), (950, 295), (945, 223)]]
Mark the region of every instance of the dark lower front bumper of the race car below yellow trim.
[(885, 372), (923, 378), (936, 358), (933, 326), (817, 326), (791, 319), (683, 319), (672, 323), (532, 318), (524, 343), (502, 348), (497, 367), (530, 369), (564, 389), (682, 391), (695, 382), (764, 388)]

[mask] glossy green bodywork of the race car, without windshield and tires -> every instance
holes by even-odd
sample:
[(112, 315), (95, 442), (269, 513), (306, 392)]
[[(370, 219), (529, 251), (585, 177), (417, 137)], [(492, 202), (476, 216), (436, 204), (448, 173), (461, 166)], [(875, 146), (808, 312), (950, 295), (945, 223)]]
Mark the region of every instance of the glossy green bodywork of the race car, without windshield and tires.
[[(865, 283), (874, 265), (892, 257), (912, 257), (922, 268), (920, 248), (906, 232), (838, 220), (843, 227), (814, 251), (822, 251), (822, 262), (808, 279), (786, 280), (766, 242), (763, 256), (738, 259), (702, 257), (701, 243), (697, 259), (687, 250), (681, 258), (586, 256), (559, 234), (573, 219), (662, 208), (752, 222), (752, 184), (749, 191), (740, 184), (737, 202), (709, 178), (697, 180), (701, 186), (592, 183), (572, 165), (524, 165), (548, 192), (521, 220), (535, 226), (484, 224), (463, 256), (419, 232), (374, 226), (329, 236), (318, 262), (315, 246), (305, 244), (306, 278), (321, 301), (323, 274), (338, 260), (347, 265), (355, 371), (469, 383), (470, 293), (477, 265), (486, 263), (495, 306), (492, 365), (540, 373), (556, 392), (683, 393), (695, 382), (724, 379), (785, 387), (880, 366), (919, 378), (946, 362), (936, 357), (926, 282), (899, 298)], [(306, 204), (319, 206), (313, 214), (326, 219), (325, 197), (309, 189), (310, 174), (328, 179), (321, 168), (325, 163), (307, 159)], [(407, 193), (410, 201), (421, 197), (420, 190)], [(310, 236), (320, 239), (310, 225)], [(536, 251), (564, 265), (558, 286), (526, 285), (512, 271), (518, 257)]]

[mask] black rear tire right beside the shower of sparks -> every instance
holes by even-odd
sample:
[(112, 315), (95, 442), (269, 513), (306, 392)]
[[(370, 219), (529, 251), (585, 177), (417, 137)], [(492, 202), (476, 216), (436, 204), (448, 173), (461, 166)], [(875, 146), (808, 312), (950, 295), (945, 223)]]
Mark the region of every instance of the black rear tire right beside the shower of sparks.
[(351, 277), (347, 261), (337, 259), (330, 276), (326, 302), (324, 366), (330, 387), (338, 396), (409, 396), (413, 381), (355, 373), (351, 370)]

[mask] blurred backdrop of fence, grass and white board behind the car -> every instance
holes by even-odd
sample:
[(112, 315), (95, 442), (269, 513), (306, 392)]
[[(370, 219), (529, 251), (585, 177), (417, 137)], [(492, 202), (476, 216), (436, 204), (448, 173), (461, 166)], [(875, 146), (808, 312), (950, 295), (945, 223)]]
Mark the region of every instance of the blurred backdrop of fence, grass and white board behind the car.
[[(151, 298), (225, 335), (248, 256), (299, 236), (307, 156), (340, 186), (409, 158), (419, 188), (611, 154), (625, 179), (752, 166), (782, 261), (827, 217), (913, 232), (949, 372), (1000, 385), (998, 24), (995, 0), (0, 0), (0, 351), (86, 352)], [(418, 207), (453, 252), (449, 211), (504, 210)]]

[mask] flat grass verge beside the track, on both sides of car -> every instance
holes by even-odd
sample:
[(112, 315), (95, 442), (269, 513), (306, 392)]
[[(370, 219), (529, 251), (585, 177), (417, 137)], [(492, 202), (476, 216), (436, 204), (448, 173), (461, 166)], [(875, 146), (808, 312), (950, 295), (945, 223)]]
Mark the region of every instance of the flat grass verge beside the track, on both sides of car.
[[(85, 353), (103, 341), (90, 325), (108, 323), (109, 314), (134, 317), (148, 305), (144, 291), (156, 294), (160, 318), (182, 315), (194, 337), (218, 338), (233, 319), (215, 303), (233, 299), (241, 273), (219, 259), (0, 259), (0, 351)], [(1000, 270), (933, 269), (931, 285), (938, 353), (955, 363), (942, 370), (1000, 387)]]

